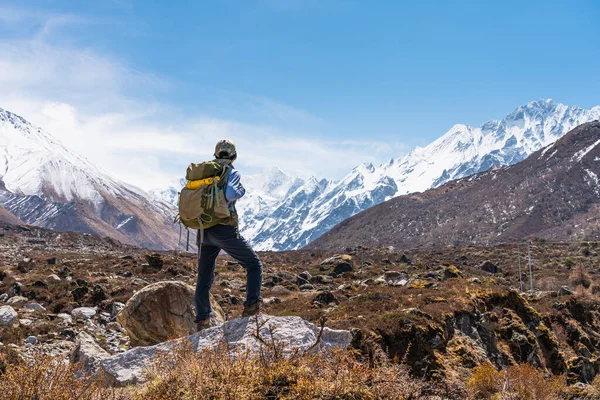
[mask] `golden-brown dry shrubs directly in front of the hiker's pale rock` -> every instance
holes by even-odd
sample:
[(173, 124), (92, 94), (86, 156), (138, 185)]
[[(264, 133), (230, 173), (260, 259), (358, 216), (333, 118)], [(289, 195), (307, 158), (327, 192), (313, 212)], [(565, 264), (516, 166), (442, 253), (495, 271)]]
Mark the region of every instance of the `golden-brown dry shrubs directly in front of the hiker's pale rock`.
[[(349, 352), (290, 358), (176, 351), (147, 371), (134, 399), (407, 399), (422, 384), (399, 365), (369, 368)], [(176, 396), (174, 395), (176, 393)]]

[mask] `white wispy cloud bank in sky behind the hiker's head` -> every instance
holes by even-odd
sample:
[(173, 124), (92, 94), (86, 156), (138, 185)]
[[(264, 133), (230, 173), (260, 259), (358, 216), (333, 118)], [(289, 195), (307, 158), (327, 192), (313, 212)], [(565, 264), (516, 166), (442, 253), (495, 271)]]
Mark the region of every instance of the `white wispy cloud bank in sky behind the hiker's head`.
[(93, 50), (52, 43), (55, 28), (86, 23), (84, 19), (32, 15), (4, 14), (12, 23), (35, 18), (41, 28), (31, 38), (0, 40), (0, 107), (137, 186), (166, 184), (183, 174), (188, 163), (210, 157), (214, 143), (224, 137), (237, 143), (242, 172), (275, 164), (304, 178), (338, 179), (361, 162), (382, 161), (404, 150), (398, 143), (338, 141), (315, 131), (290, 130), (289, 121), (315, 126), (322, 121), (261, 96), (232, 94), (257, 115), (268, 115), (268, 124), (181, 115), (173, 105), (146, 96), (175, 90), (168, 79)]

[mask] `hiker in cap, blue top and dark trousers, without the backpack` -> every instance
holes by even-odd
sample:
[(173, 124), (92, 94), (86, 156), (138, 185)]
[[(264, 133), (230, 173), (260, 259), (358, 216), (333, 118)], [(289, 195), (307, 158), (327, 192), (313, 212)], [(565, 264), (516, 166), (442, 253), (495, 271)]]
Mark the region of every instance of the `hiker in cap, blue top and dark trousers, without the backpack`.
[[(233, 161), (236, 158), (235, 145), (231, 141), (225, 139), (217, 143), (213, 162), (220, 165), (224, 172), (220, 176), (222, 180), (216, 184), (222, 188), (227, 205), (225, 211), (229, 212), (230, 217), (209, 228), (202, 229), (201, 227), (198, 231), (196, 243), (200, 254), (198, 257), (198, 280), (195, 296), (198, 331), (210, 326), (212, 309), (209, 301), (209, 291), (215, 278), (216, 259), (221, 250), (236, 259), (246, 270), (246, 301), (244, 302), (242, 316), (256, 315), (260, 311), (262, 263), (250, 244), (240, 236), (238, 231), (235, 202), (245, 194), (246, 190), (240, 182), (238, 171), (233, 167)], [(218, 215), (217, 205), (213, 207), (215, 215)]]

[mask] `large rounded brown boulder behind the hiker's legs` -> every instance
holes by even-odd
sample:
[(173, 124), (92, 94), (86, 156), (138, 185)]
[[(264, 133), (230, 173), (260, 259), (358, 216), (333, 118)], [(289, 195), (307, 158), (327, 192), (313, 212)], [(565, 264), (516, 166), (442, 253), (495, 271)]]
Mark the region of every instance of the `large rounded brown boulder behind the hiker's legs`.
[[(148, 346), (196, 331), (195, 289), (183, 282), (165, 281), (136, 292), (117, 314), (133, 346)], [(222, 323), (223, 310), (211, 296), (214, 324)]]

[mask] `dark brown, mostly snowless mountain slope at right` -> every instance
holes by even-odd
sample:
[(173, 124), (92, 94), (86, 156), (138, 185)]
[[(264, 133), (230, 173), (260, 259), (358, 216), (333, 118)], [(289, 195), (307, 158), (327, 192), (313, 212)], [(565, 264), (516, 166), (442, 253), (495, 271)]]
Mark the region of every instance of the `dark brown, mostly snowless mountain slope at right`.
[(530, 236), (600, 238), (600, 122), (582, 124), (514, 165), (396, 197), (307, 248), (464, 245)]

